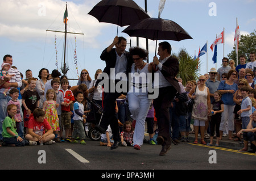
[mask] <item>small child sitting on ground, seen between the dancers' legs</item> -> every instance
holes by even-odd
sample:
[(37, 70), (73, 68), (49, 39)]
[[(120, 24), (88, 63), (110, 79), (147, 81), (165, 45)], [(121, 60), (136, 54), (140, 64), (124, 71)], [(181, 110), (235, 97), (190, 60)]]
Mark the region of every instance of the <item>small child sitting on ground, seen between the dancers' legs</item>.
[(123, 131), (120, 134), (123, 146), (133, 145), (134, 128), (132, 127), (132, 124), (131, 121), (125, 121), (125, 124), (123, 124)]

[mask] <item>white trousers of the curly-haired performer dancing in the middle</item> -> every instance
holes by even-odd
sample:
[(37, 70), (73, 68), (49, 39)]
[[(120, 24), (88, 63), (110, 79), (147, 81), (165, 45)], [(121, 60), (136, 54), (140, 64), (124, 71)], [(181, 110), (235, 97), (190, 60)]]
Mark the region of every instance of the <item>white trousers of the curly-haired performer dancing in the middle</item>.
[(145, 120), (152, 99), (148, 99), (147, 94), (135, 95), (134, 93), (128, 93), (127, 99), (129, 103), (129, 110), (131, 112), (131, 118), (136, 120), (133, 142), (134, 145), (141, 146), (143, 145), (144, 139)]

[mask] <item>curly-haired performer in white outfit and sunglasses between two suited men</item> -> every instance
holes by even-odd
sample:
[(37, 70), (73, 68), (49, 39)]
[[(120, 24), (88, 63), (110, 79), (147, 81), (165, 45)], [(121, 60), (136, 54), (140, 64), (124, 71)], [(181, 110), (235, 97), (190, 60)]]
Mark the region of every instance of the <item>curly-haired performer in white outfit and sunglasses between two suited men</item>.
[(152, 70), (152, 65), (143, 61), (148, 54), (146, 50), (133, 47), (129, 49), (129, 52), (134, 64), (131, 66), (127, 100), (131, 118), (136, 120), (133, 136), (134, 149), (140, 150), (144, 139), (145, 120), (152, 102), (152, 99), (148, 99), (147, 91), (147, 73)]

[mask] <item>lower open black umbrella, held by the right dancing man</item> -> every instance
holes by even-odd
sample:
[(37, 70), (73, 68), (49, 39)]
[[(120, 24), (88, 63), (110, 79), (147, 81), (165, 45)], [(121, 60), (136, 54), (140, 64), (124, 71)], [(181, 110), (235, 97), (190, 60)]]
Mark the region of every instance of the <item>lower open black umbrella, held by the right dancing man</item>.
[(187, 31), (181, 28), (179, 24), (172, 20), (162, 18), (146, 18), (138, 20), (122, 32), (127, 33), (129, 36), (144, 37), (151, 40), (180, 41), (192, 39)]

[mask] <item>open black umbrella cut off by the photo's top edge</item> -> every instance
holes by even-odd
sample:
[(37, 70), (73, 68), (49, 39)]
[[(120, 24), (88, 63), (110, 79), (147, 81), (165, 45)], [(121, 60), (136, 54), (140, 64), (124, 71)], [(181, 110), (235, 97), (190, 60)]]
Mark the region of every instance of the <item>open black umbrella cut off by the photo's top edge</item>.
[(117, 24), (117, 32), (118, 26), (123, 27), (137, 20), (150, 18), (133, 0), (102, 0), (88, 14), (99, 22)]

